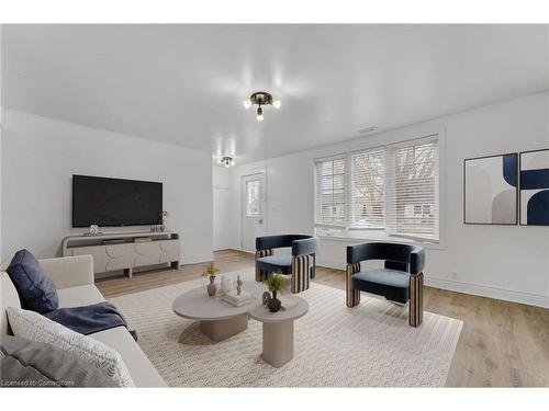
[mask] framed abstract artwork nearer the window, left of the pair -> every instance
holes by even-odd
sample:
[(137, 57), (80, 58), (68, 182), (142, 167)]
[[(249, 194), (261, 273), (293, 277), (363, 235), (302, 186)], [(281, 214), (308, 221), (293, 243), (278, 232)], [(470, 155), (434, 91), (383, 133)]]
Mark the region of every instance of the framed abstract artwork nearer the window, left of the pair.
[(463, 222), (516, 225), (518, 155), (463, 161)]

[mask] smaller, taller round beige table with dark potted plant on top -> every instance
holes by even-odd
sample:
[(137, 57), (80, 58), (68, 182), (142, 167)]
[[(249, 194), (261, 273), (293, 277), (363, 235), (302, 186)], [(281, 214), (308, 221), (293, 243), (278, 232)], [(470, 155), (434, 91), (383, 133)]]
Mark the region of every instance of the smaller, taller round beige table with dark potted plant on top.
[(264, 352), (265, 362), (273, 367), (281, 367), (293, 358), (293, 321), (303, 317), (309, 311), (309, 304), (301, 297), (287, 295), (287, 300), (294, 300), (296, 306), (278, 312), (270, 312), (267, 307), (256, 305), (250, 307), (249, 316), (264, 323)]

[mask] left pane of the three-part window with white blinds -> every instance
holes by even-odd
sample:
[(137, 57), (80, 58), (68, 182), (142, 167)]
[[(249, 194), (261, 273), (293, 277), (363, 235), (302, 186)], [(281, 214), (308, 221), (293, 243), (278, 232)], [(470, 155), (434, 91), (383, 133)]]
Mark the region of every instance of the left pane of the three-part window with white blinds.
[(315, 222), (345, 226), (345, 158), (316, 162)]

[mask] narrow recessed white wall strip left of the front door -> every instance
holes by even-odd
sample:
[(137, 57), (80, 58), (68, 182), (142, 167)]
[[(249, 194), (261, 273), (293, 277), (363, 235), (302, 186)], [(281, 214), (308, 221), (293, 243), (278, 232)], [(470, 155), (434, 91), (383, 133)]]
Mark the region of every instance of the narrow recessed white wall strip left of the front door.
[(213, 249), (224, 250), (231, 244), (228, 169), (213, 165)]

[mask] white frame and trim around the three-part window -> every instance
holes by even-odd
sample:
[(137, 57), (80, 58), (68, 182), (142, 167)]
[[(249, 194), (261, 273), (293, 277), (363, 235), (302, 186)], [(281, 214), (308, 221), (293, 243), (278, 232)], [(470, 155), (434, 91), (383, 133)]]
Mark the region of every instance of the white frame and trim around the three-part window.
[[(388, 158), (391, 157), (391, 150), (397, 148), (404, 148), (410, 146), (416, 146), (421, 144), (427, 144), (430, 141), (437, 141), (436, 146), (436, 155), (438, 157), (438, 186), (437, 189), (437, 199), (438, 199), (438, 219), (435, 225), (435, 229), (437, 231), (437, 239), (422, 237), (422, 236), (413, 236), (413, 235), (403, 235), (403, 233), (392, 233), (389, 230), (389, 201), (388, 201), (388, 185), (389, 181), (395, 181), (394, 172), (392, 170), (388, 170), (391, 165), (394, 164), (392, 161), (388, 161)], [(401, 239), (403, 241), (410, 241), (414, 243), (425, 244), (426, 247), (434, 249), (444, 249), (445, 248), (445, 235), (446, 235), (446, 192), (445, 192), (445, 181), (446, 181), (446, 158), (445, 158), (445, 145), (446, 145), (446, 130), (441, 129), (435, 133), (426, 133), (421, 137), (411, 137), (406, 139), (395, 140), (388, 142), (385, 145), (372, 145), (370, 147), (365, 147), (358, 150), (347, 151), (343, 153), (338, 153), (329, 157), (315, 158), (313, 161), (314, 167), (314, 229), (317, 236), (322, 238), (333, 238), (340, 240), (360, 240), (360, 239), (372, 239), (372, 240), (388, 240), (395, 241)], [(360, 153), (367, 153), (371, 151), (384, 151), (384, 175), (383, 175), (383, 197), (384, 197), (384, 227), (383, 228), (362, 228), (362, 227), (352, 227), (352, 157), (358, 156)], [(316, 175), (316, 164), (322, 161), (329, 161), (334, 159), (345, 159), (345, 226), (334, 226), (317, 222), (317, 175)], [(392, 174), (392, 175), (391, 175)], [(433, 210), (432, 210), (433, 212)]]

